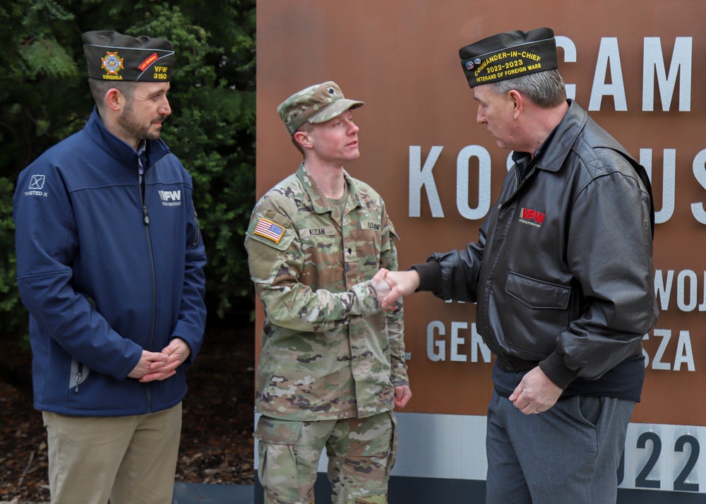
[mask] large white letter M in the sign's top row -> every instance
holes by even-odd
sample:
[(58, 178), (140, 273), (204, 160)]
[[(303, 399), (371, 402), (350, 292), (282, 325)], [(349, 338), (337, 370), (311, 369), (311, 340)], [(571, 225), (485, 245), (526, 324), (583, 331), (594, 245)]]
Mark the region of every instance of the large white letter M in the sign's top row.
[(676, 37), (674, 53), (671, 55), (669, 76), (664, 68), (662, 42), (659, 37), (645, 37), (642, 63), (642, 110), (654, 110), (654, 77), (657, 76), (659, 97), (662, 98), (662, 110), (669, 112), (671, 98), (674, 96), (676, 76), (679, 78), (679, 112), (691, 110), (691, 46), (692, 37)]

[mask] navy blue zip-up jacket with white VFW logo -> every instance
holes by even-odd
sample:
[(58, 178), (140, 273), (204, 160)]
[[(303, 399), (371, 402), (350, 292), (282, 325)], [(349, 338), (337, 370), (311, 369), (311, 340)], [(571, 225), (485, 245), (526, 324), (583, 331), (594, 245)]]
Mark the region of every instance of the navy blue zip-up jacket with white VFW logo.
[[(30, 312), (35, 408), (76, 416), (146, 414), (178, 404), (203, 341), (205, 249), (191, 176), (148, 141), (136, 150), (95, 109), (82, 131), (20, 174), (13, 212), (17, 281)], [(174, 337), (189, 361), (162, 381), (127, 378), (143, 349)]]

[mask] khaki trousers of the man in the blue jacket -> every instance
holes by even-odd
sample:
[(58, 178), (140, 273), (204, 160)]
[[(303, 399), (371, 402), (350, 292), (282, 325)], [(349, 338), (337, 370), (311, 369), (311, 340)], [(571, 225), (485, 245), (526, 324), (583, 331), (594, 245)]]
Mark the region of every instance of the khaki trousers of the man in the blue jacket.
[(42, 412), (52, 504), (171, 504), (181, 402), (131, 416)]

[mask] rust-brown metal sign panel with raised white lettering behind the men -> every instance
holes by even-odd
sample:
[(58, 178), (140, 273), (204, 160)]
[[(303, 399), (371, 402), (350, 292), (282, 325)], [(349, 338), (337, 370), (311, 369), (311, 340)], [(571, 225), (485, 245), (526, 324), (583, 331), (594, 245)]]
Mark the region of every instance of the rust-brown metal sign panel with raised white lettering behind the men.
[[(552, 28), (568, 95), (652, 178), (661, 316), (645, 335), (633, 423), (703, 425), (706, 403), (692, 398), (706, 383), (705, 15), (702, 0), (260, 1), (258, 196), (300, 160), (277, 104), (335, 80), (365, 102), (355, 112), (361, 157), (347, 170), (385, 199), (400, 267), (464, 248), (498, 196), (509, 152), (476, 123), (458, 49)], [(475, 307), (414, 294), (405, 327), (414, 391), (405, 412), (486, 414), (491, 354)]]

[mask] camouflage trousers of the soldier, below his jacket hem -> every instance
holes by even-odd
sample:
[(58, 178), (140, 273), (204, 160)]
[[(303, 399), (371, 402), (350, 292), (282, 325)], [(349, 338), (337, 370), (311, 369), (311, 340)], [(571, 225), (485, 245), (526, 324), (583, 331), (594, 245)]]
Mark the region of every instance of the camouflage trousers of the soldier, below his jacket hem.
[(265, 504), (313, 504), (324, 447), (333, 504), (388, 502), (388, 479), (397, 454), (393, 412), (311, 422), (261, 416), (255, 437)]

